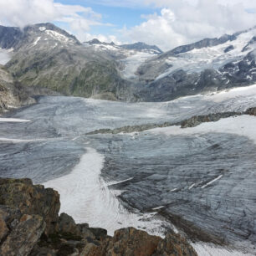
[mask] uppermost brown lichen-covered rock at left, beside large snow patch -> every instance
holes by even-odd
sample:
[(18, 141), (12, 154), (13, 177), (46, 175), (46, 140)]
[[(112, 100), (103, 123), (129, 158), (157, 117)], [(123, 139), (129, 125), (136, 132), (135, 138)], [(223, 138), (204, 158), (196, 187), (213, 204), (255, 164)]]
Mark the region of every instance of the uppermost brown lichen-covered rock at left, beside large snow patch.
[(59, 193), (34, 185), (29, 179), (0, 179), (0, 204), (17, 207), (23, 214), (38, 214), (53, 233), (59, 218)]

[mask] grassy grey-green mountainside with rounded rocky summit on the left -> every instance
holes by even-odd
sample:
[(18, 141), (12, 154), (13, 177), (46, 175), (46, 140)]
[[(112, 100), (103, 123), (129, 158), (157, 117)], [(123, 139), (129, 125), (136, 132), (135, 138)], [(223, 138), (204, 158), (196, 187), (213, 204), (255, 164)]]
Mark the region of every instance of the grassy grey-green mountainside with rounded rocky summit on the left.
[[(13, 34), (18, 30), (10, 28), (10, 31)], [(13, 45), (7, 44), (11, 39), (6, 34), (3, 46), (14, 49), (6, 67), (20, 83), (64, 95), (133, 99), (129, 83), (120, 77), (118, 64), (110, 54), (85, 48), (74, 36), (53, 24), (24, 28), (18, 43)]]

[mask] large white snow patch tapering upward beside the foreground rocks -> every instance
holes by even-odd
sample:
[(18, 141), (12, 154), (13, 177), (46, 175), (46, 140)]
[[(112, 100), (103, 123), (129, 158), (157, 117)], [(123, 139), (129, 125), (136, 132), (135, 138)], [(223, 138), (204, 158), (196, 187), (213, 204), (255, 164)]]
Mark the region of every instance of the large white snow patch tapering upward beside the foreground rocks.
[(152, 213), (128, 212), (116, 197), (119, 191), (110, 190), (100, 177), (105, 158), (93, 148), (86, 148), (79, 164), (64, 177), (45, 182), (60, 194), (60, 212), (71, 215), (76, 223), (105, 228), (110, 235), (118, 228), (143, 228), (149, 233), (163, 235), (161, 221)]

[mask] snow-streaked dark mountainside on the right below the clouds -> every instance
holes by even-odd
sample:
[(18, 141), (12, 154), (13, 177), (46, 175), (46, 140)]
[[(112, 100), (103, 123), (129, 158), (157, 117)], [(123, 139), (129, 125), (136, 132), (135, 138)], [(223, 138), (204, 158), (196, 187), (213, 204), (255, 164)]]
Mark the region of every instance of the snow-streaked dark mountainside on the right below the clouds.
[(145, 100), (172, 100), (256, 81), (256, 28), (180, 46), (141, 64)]

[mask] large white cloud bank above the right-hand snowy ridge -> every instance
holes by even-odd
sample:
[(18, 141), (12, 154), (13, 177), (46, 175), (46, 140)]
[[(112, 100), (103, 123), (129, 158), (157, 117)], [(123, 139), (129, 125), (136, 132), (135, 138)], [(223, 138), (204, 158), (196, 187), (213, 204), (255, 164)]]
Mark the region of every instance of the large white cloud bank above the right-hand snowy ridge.
[(256, 14), (246, 11), (256, 8), (256, 1), (146, 0), (146, 3), (154, 3), (161, 13), (143, 16), (145, 22), (123, 28), (124, 40), (144, 41), (168, 50), (256, 25)]

